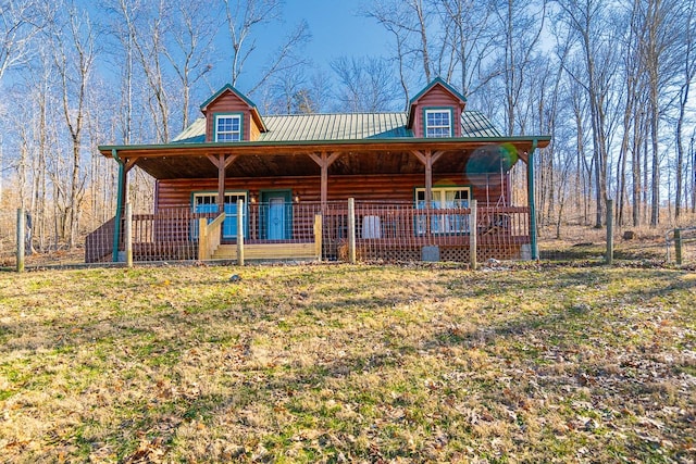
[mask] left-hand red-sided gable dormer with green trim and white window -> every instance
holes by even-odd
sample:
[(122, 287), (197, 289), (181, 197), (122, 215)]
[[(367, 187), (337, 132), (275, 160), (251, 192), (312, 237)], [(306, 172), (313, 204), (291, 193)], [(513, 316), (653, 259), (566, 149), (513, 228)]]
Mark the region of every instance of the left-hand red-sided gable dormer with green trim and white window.
[(206, 116), (207, 142), (253, 141), (268, 129), (244, 93), (227, 84), (200, 106)]

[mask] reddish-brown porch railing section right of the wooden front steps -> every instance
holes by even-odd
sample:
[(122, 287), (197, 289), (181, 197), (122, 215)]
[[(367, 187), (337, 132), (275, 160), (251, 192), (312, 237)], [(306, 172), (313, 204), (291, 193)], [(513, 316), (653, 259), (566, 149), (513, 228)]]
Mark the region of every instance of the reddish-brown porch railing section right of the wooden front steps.
[[(468, 208), (418, 209), (412, 203), (356, 202), (356, 247), (359, 259), (407, 260), (423, 258), (424, 247), (437, 247), (442, 260), (468, 261), (471, 235)], [(530, 243), (526, 206), (480, 205), (477, 258), (525, 256)], [(348, 208), (331, 203), (324, 217), (324, 253), (347, 260)]]

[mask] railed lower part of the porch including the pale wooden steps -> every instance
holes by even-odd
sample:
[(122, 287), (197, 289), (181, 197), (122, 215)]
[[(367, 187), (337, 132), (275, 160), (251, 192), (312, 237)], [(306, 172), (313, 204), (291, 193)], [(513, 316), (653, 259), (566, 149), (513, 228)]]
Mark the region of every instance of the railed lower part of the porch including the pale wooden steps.
[(412, 202), (293, 201), (276, 216), (270, 203), (238, 204), (220, 215), (183, 205), (133, 214), (129, 224), (123, 215), (119, 227), (111, 220), (87, 237), (85, 261), (123, 261), (128, 230), (136, 262), (236, 261), (240, 252), (263, 261), (350, 261), (355, 253), (359, 261), (468, 262), (472, 238), (478, 261), (531, 258), (527, 206), (483, 203), (474, 221), (472, 208)]

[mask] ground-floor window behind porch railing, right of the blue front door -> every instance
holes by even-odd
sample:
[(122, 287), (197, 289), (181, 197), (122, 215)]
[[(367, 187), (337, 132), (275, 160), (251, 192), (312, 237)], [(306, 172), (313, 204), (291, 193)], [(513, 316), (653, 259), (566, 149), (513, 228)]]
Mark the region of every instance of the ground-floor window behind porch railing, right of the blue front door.
[[(469, 208), (469, 187), (437, 187), (433, 188), (433, 210), (457, 210)], [(415, 208), (426, 209), (425, 189), (415, 189)], [(415, 229), (418, 235), (424, 235), (430, 229), (433, 234), (469, 234), (469, 214), (431, 214), (417, 216)]]

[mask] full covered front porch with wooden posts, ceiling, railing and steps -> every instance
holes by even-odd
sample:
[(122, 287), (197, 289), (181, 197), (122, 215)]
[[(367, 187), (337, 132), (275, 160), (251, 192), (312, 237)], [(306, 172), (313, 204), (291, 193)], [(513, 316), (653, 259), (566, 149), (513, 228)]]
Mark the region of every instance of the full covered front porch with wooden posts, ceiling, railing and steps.
[[(519, 137), (100, 147), (119, 163), (119, 204), (114, 218), (88, 237), (85, 258), (123, 259), (127, 173), (137, 165), (158, 190), (153, 212), (132, 217), (135, 261), (235, 260), (240, 241), (249, 260), (347, 261), (351, 234), (365, 261), (430, 261), (435, 251), (437, 260), (468, 261), (472, 235), (478, 260), (536, 259), (533, 160), (546, 145), (547, 138)], [(508, 172), (519, 161), (527, 201), (514, 205)], [(450, 184), (467, 186), (464, 201), (433, 198)], [(422, 186), (415, 199), (414, 185)], [(212, 204), (197, 206), (190, 192), (198, 190), (209, 191)], [(281, 210), (274, 191), (285, 196)], [(277, 211), (282, 235), (270, 231)]]

